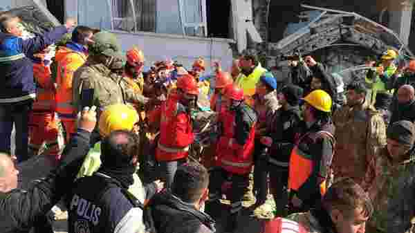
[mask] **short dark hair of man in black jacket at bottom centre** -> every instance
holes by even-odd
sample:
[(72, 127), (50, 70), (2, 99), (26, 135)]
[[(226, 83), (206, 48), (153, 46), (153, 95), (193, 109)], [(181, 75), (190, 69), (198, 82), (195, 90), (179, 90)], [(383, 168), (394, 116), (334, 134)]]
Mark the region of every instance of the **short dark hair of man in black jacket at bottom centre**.
[(208, 170), (199, 163), (187, 162), (177, 168), (172, 193), (186, 203), (195, 203), (208, 185)]

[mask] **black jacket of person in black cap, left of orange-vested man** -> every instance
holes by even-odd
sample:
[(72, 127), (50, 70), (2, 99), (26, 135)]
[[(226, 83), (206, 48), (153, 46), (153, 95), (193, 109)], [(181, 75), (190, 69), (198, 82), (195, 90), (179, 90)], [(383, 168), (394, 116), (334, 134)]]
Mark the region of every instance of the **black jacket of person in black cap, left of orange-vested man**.
[(275, 112), (271, 129), (267, 129), (268, 135), (273, 138), (273, 145), (269, 149), (271, 164), (288, 168), (300, 115), (299, 106), (290, 106), (287, 110), (281, 108)]

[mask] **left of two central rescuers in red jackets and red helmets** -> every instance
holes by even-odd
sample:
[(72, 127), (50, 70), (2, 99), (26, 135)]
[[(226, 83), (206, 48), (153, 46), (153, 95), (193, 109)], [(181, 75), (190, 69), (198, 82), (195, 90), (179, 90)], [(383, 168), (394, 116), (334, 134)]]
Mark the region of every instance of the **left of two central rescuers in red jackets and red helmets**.
[(160, 122), (156, 160), (167, 189), (172, 187), (177, 166), (186, 162), (189, 146), (194, 140), (190, 114), (196, 108), (198, 95), (194, 77), (183, 75), (177, 80), (176, 91), (170, 93), (161, 108), (154, 113), (154, 119)]

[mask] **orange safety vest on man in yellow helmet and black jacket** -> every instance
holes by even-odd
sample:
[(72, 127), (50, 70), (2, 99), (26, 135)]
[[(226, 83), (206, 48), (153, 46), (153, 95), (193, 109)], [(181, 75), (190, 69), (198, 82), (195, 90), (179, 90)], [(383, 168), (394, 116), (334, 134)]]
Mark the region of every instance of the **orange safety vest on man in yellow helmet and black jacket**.
[[(298, 148), (299, 143), (303, 138), (309, 136), (310, 133), (306, 133), (304, 136), (299, 138), (297, 145), (291, 151), (290, 157), (290, 169), (288, 176), (288, 189), (293, 189), (298, 191), (299, 188), (304, 185), (306, 180), (312, 175), (313, 163), (312, 155), (304, 153), (301, 149)], [(317, 135), (326, 135), (329, 136), (334, 142), (334, 136), (327, 131), (318, 131)], [(334, 153), (334, 150), (333, 150)], [(331, 162), (330, 162), (331, 163)], [(316, 184), (317, 185), (317, 184)], [(323, 196), (326, 194), (326, 179), (320, 184), (320, 194)]]

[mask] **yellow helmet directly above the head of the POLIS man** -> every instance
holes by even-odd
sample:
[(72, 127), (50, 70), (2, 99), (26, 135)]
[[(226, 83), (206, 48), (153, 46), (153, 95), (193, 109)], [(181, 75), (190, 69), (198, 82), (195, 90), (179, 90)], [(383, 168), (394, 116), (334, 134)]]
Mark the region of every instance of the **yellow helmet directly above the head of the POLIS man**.
[(98, 129), (103, 137), (109, 136), (115, 130), (131, 131), (138, 119), (138, 113), (133, 107), (125, 104), (113, 104), (102, 111)]

